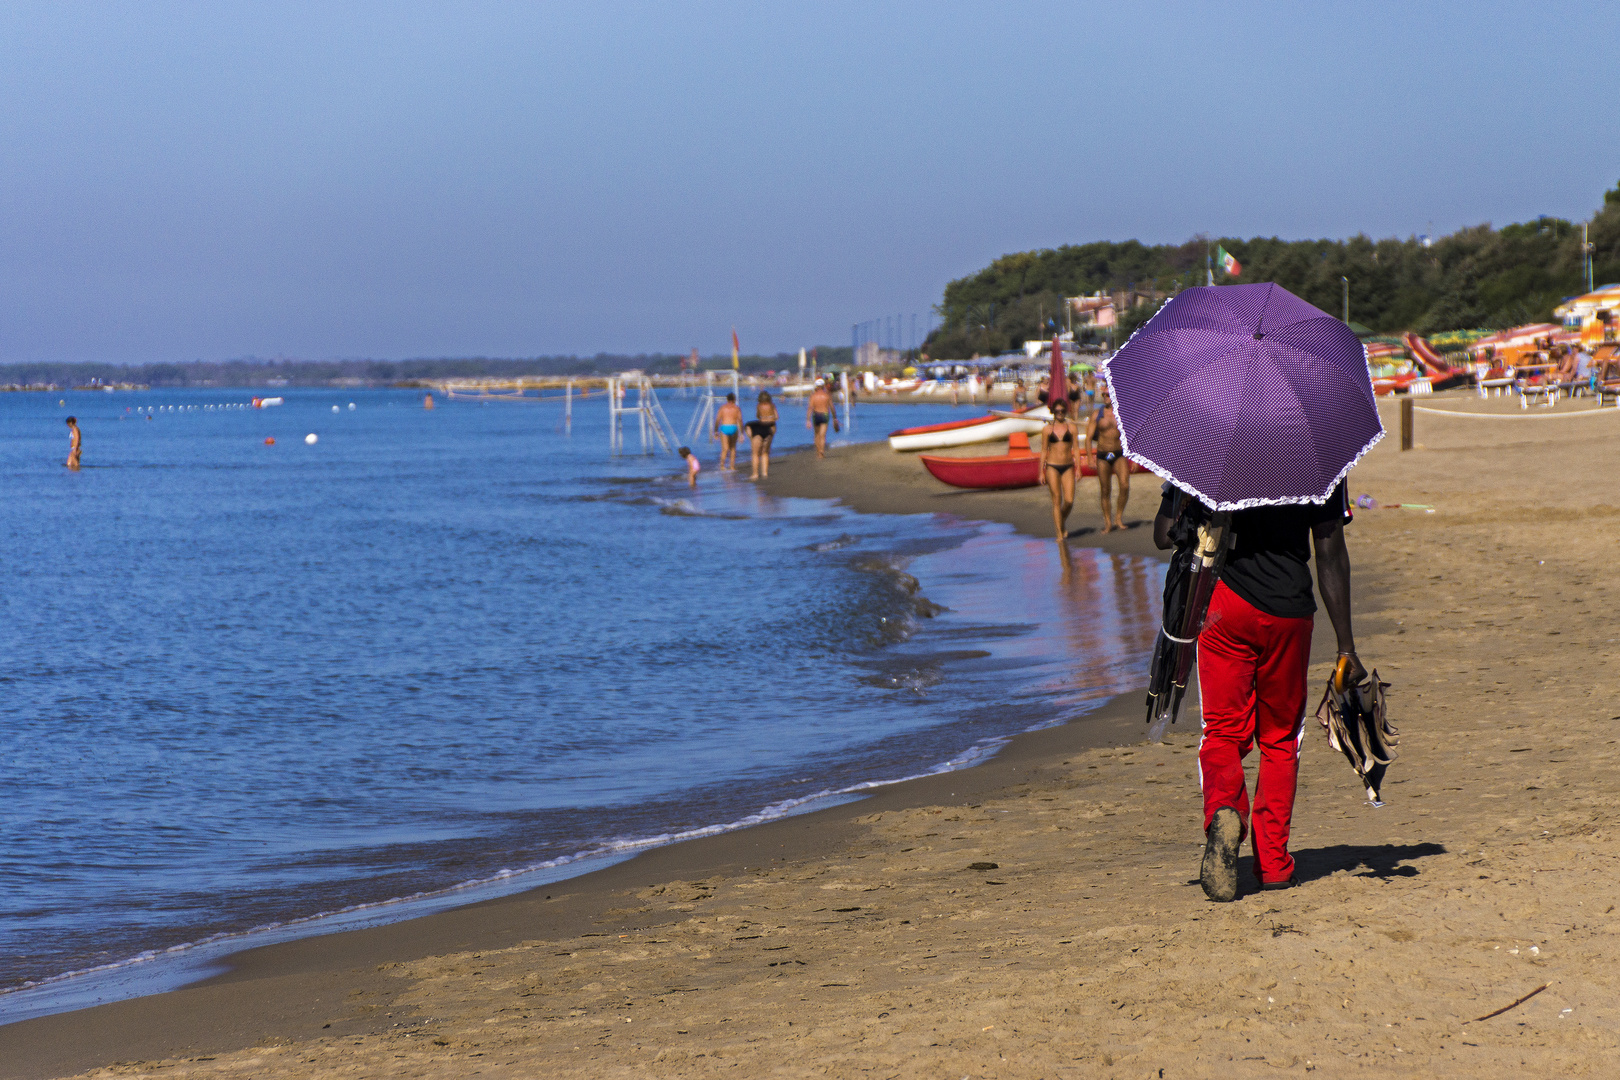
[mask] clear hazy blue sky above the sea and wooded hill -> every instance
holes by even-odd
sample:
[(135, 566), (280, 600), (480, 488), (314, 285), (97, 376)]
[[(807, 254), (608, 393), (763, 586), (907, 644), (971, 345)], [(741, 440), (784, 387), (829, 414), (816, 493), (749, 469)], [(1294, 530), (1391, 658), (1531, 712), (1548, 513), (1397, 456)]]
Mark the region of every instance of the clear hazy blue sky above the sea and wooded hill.
[(0, 363), (844, 343), (1089, 240), (1583, 219), (1620, 5), (10, 3)]

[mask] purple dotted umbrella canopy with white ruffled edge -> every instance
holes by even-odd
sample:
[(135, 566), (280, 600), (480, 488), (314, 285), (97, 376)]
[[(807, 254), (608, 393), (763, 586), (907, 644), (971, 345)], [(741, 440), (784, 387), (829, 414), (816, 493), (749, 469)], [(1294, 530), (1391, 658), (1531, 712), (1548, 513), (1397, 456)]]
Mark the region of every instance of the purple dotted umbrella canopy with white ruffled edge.
[(1213, 510), (1320, 504), (1383, 437), (1361, 340), (1280, 285), (1184, 290), (1103, 371), (1126, 455)]

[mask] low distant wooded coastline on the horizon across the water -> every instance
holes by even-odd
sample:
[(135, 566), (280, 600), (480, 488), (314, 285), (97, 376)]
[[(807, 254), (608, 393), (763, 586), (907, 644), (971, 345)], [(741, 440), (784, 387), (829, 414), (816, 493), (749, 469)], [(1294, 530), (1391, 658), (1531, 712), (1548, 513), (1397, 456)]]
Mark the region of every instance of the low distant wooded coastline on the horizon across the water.
[[(531, 359), (228, 359), (177, 364), (50, 364), (0, 363), (0, 385), (55, 384), (62, 387), (102, 382), (144, 382), (154, 387), (262, 387), (262, 385), (392, 385), (416, 379), (476, 379), (481, 376), (599, 376), (619, 371), (672, 374), (685, 356), (535, 356)], [(849, 347), (820, 347), (821, 368), (847, 364)], [(705, 356), (706, 369), (731, 369), (731, 355)], [(799, 369), (799, 353), (742, 356), (742, 371)]]

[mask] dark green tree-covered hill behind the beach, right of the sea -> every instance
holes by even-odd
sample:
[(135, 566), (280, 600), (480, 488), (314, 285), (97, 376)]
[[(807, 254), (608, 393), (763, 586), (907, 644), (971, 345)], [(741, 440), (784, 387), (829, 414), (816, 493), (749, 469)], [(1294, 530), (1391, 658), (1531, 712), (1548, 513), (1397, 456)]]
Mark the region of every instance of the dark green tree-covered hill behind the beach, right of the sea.
[[(1510, 327), (1552, 321), (1565, 296), (1586, 291), (1581, 227), (1554, 217), (1505, 225), (1474, 225), (1424, 246), (1406, 240), (1212, 238), (1243, 264), (1239, 277), (1217, 270), (1218, 285), (1277, 282), (1324, 311), (1343, 311), (1349, 279), (1349, 317), (1372, 330), (1435, 334), (1473, 327)], [(1604, 194), (1591, 223), (1597, 285), (1620, 280), (1620, 186)], [(1063, 298), (1098, 290), (1139, 295), (1202, 285), (1204, 240), (1149, 246), (1136, 240), (1064, 244), (1022, 251), (944, 287), (943, 324), (923, 350), (935, 358), (998, 353), (1063, 325)], [(1157, 304), (1124, 316), (1134, 330)]]

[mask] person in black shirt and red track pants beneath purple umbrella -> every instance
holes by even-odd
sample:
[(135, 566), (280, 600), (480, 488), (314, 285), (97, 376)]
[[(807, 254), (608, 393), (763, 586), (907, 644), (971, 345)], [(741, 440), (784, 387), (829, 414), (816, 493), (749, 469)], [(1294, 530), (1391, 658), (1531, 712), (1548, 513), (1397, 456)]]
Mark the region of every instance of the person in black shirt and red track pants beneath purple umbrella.
[[(1178, 505), (1179, 504), (1179, 505)], [(1153, 542), (1171, 546), (1178, 500), (1166, 484)], [(1299, 745), (1306, 724), (1306, 667), (1311, 662), (1311, 549), (1315, 549), (1317, 586), (1338, 638), (1340, 657), (1349, 661), (1353, 682), (1366, 678), (1356, 657), (1349, 619), (1349, 551), (1345, 523), (1351, 520), (1345, 481), (1324, 505), (1277, 505), (1231, 515), (1233, 547), (1210, 599), (1199, 635), (1199, 696), (1204, 737), (1199, 742), (1199, 782), (1204, 789), (1205, 895), (1228, 902), (1238, 895), (1238, 850), (1254, 834), (1254, 873), (1260, 889), (1294, 884), (1288, 832), (1299, 782)], [(1260, 767), (1254, 810), (1243, 777), (1243, 758), (1259, 745)]]

